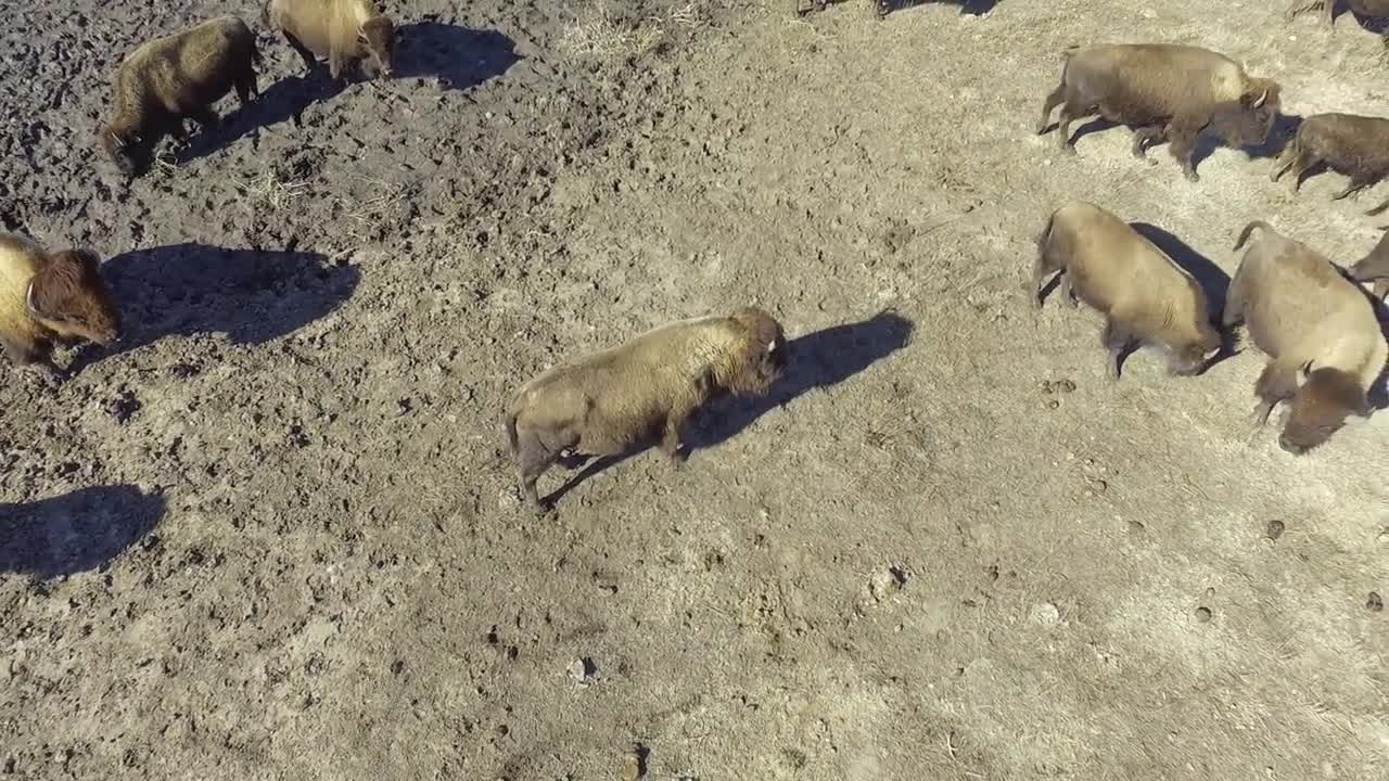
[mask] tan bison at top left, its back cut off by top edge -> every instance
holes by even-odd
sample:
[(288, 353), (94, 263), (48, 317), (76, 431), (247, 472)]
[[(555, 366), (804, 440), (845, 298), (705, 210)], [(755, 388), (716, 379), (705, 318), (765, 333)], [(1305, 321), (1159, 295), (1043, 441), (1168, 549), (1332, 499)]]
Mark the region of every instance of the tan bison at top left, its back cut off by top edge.
[(332, 78), (361, 61), (368, 76), (389, 76), (396, 57), (396, 25), (371, 0), (269, 0), (265, 17), (313, 71), (328, 58)]

